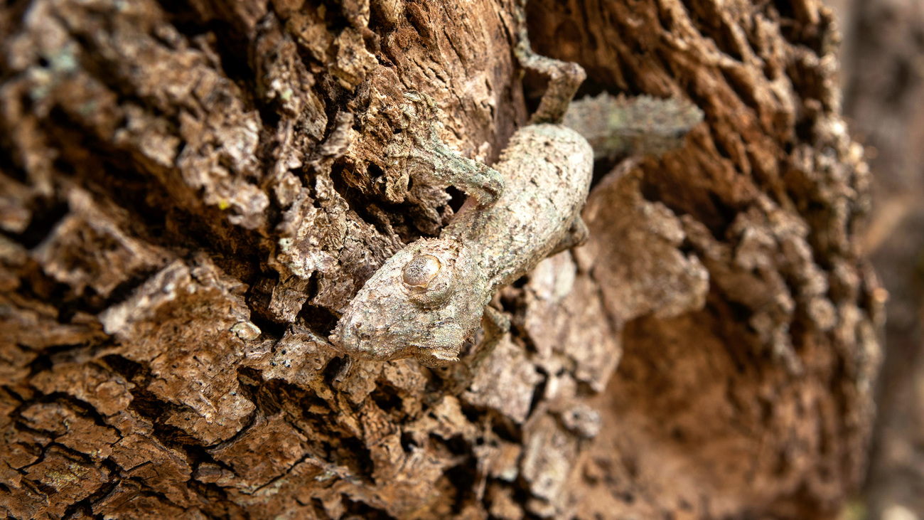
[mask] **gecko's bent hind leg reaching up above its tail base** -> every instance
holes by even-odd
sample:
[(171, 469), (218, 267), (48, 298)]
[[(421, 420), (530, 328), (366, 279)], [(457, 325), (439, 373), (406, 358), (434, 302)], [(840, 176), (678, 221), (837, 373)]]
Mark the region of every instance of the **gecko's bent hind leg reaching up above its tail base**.
[(568, 104), (577, 93), (577, 87), (587, 78), (584, 68), (577, 63), (541, 56), (532, 50), (526, 29), (526, 1), (517, 2), (519, 34), (514, 54), (523, 68), (529, 68), (549, 79), (549, 86), (539, 102), (539, 108), (529, 119), (530, 124), (560, 123)]

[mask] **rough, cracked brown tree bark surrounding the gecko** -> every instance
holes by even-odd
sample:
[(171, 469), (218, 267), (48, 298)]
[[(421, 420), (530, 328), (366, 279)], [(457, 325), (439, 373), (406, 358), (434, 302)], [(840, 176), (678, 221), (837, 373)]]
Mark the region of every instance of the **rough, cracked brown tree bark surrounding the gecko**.
[(0, 7), (0, 511), (834, 514), (864, 471), (883, 295), (830, 13), (528, 15), (587, 93), (706, 121), (661, 161), (600, 165), (590, 242), (501, 292), (514, 327), (453, 395), (325, 338), (460, 202), (383, 157), (401, 94), (484, 162), (525, 122), (512, 0)]

